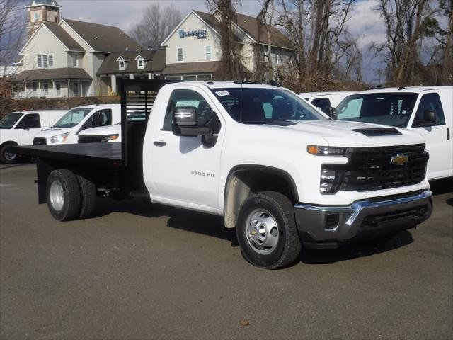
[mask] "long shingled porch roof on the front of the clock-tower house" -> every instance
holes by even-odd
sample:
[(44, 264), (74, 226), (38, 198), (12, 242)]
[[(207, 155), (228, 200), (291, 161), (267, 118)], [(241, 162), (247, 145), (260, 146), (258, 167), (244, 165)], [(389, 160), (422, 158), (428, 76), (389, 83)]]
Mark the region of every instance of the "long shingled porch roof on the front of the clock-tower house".
[(84, 69), (76, 67), (59, 69), (29, 69), (13, 76), (13, 81), (34, 81), (54, 79), (93, 79)]

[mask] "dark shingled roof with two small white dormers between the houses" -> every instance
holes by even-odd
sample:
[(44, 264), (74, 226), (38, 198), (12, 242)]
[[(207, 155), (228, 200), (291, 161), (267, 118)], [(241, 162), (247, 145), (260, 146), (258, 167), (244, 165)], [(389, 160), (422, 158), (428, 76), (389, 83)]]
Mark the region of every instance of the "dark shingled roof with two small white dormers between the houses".
[[(138, 69), (136, 57), (142, 56), (147, 62), (144, 69)], [(123, 57), (127, 62), (126, 69), (120, 70), (117, 59)], [(151, 60), (151, 62), (148, 62)], [(97, 74), (113, 74), (113, 73), (137, 73), (137, 72), (161, 72), (166, 64), (166, 52), (164, 49), (151, 51), (125, 51), (110, 53), (99, 67)]]

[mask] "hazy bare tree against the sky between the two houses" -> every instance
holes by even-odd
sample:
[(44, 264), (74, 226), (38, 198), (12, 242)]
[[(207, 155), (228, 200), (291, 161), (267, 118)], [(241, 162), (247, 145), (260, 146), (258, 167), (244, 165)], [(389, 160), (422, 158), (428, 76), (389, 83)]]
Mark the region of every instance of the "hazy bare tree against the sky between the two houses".
[(154, 50), (159, 48), (180, 21), (181, 13), (173, 4), (163, 8), (159, 3), (151, 4), (130, 34), (140, 45)]

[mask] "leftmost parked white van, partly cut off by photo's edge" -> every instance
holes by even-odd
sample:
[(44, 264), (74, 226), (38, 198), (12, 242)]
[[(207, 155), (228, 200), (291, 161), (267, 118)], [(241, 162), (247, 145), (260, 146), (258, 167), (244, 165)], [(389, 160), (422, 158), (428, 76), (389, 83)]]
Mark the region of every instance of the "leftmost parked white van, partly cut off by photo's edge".
[(39, 110), (11, 112), (0, 120), (0, 162), (14, 163), (17, 155), (7, 152), (8, 145), (31, 145), (42, 129), (47, 129), (67, 110)]

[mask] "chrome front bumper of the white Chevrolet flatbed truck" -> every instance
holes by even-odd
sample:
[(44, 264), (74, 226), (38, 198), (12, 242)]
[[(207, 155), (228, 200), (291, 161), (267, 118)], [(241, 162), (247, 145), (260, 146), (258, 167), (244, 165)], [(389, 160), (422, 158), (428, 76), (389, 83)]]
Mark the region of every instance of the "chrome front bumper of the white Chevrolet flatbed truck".
[(359, 200), (347, 206), (299, 203), (294, 208), (304, 244), (312, 248), (334, 248), (342, 243), (415, 227), (431, 215), (432, 192)]

